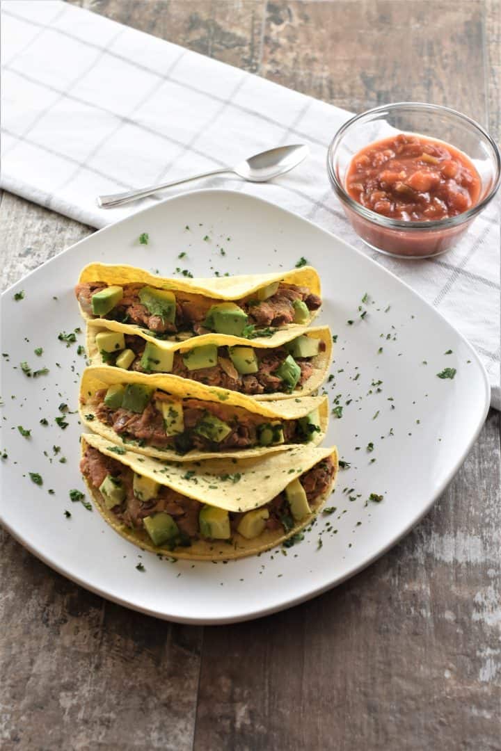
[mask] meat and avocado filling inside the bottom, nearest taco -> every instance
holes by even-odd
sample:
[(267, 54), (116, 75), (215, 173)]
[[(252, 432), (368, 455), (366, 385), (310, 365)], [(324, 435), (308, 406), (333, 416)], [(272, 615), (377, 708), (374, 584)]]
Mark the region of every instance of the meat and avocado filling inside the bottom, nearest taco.
[[(155, 546), (174, 550), (197, 540), (258, 538), (265, 530), (290, 532), (314, 512), (335, 475), (331, 457), (291, 481), (266, 505), (252, 511), (225, 511), (178, 493), (87, 445), (80, 470), (108, 512), (130, 529), (145, 532)], [(187, 473), (188, 474), (188, 473)], [(193, 473), (192, 473), (193, 474)], [(240, 475), (215, 476), (237, 483)]]

